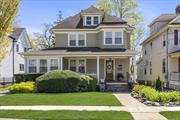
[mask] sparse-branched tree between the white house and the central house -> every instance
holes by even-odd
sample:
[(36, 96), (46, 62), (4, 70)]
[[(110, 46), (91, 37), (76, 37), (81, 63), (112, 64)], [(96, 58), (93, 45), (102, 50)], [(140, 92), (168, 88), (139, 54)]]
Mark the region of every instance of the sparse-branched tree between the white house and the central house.
[(52, 31), (52, 28), (58, 25), (62, 20), (63, 20), (62, 12), (59, 11), (58, 18), (56, 21), (54, 21), (52, 24), (45, 23), (42, 33), (34, 33), (34, 37), (35, 37), (34, 41), (39, 49), (54, 47), (55, 35)]

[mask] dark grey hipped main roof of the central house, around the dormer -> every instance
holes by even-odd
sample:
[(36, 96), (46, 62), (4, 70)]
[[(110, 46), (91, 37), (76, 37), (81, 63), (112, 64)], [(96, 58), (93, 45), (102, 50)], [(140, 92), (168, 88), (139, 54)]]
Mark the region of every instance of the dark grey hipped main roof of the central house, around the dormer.
[[(89, 7), (86, 10), (82, 10), (80, 13), (70, 16), (56, 25), (53, 29), (76, 29), (76, 28), (96, 28), (97, 26), (83, 26), (82, 13), (102, 13), (103, 19), (100, 24), (127, 24), (126, 21), (110, 15), (105, 15), (102, 10), (97, 9), (94, 6)], [(128, 25), (128, 24), (127, 24)]]

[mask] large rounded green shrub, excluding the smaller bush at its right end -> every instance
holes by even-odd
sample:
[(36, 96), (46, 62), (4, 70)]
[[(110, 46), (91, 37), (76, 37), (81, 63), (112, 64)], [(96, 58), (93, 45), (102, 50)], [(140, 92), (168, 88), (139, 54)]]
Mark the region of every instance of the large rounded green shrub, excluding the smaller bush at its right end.
[(81, 82), (80, 74), (69, 70), (50, 71), (38, 77), (36, 81), (38, 92), (46, 93), (75, 92)]

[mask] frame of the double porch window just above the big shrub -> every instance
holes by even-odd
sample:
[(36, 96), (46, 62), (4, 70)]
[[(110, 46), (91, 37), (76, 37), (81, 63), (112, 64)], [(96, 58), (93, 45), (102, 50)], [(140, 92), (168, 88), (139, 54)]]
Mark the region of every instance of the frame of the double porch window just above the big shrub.
[(75, 72), (79, 72), (79, 66), (78, 66), (78, 64), (79, 64), (79, 61), (80, 60), (84, 60), (84, 67), (85, 67), (85, 72), (84, 73), (82, 73), (82, 74), (86, 74), (86, 72), (87, 72), (87, 60), (85, 59), (85, 58), (69, 58), (68, 59), (68, 69), (70, 70), (70, 61), (71, 60), (75, 60), (76, 62), (75, 62), (75, 67), (76, 67), (76, 71)]

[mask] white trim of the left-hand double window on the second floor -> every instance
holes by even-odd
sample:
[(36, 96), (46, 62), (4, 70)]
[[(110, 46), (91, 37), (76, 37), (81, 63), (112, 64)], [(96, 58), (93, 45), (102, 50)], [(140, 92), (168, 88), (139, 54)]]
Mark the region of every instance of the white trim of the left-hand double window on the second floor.
[[(71, 46), (70, 45), (70, 35), (74, 34), (76, 36), (76, 45), (75, 46)], [(78, 45), (78, 41), (79, 41), (79, 38), (78, 38), (78, 35), (79, 34), (83, 34), (84, 35), (84, 46), (79, 46)], [(86, 47), (86, 33), (85, 32), (72, 32), (72, 33), (68, 33), (68, 47)]]

